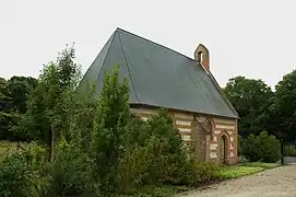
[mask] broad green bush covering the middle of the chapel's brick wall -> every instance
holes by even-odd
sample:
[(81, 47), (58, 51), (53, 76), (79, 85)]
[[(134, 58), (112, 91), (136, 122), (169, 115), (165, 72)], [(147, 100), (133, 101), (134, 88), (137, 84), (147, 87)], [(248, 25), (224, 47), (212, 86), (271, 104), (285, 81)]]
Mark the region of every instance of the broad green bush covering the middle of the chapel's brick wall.
[(216, 164), (193, 159), (166, 111), (159, 111), (147, 123), (141, 121), (135, 118), (144, 135), (133, 126), (129, 129), (135, 132), (127, 132), (134, 142), (120, 159), (118, 193), (129, 193), (146, 185), (193, 186), (218, 178)]

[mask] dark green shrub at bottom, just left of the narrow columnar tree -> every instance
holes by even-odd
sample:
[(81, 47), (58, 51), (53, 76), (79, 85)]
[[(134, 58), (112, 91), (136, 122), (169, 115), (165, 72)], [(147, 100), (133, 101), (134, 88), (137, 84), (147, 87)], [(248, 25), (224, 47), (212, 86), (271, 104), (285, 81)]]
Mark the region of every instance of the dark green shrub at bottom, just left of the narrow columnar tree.
[(91, 160), (76, 140), (62, 137), (52, 163), (52, 195), (78, 195), (92, 187)]

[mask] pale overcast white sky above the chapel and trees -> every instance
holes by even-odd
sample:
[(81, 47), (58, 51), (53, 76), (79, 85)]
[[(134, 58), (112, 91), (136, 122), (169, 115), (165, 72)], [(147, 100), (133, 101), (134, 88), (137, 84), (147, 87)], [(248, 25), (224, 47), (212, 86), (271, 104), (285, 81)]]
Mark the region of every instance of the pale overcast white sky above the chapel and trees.
[(274, 86), (296, 68), (293, 0), (0, 0), (0, 77), (37, 77), (75, 43), (85, 72), (117, 27), (193, 58), (203, 44), (221, 86), (245, 76)]

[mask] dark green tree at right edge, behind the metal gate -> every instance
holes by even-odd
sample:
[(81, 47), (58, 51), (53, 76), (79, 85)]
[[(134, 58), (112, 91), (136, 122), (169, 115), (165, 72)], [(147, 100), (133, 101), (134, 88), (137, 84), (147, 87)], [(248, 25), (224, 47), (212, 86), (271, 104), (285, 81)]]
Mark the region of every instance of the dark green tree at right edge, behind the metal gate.
[[(275, 95), (270, 107), (271, 129), (287, 140), (296, 140), (296, 70), (287, 73), (275, 85)], [(274, 126), (276, 124), (276, 126)]]

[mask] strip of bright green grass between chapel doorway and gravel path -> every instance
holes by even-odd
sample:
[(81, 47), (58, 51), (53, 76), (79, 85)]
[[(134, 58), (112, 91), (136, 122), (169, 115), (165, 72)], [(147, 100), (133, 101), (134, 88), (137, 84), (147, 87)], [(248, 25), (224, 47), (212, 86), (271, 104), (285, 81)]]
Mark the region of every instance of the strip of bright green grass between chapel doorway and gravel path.
[(276, 163), (246, 162), (221, 170), (222, 179), (237, 178), (279, 166)]

